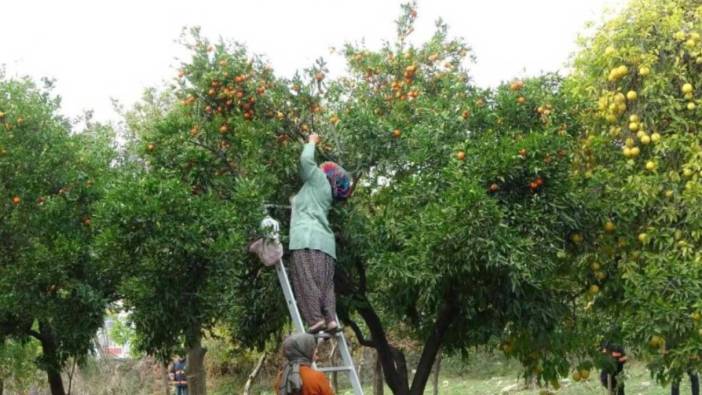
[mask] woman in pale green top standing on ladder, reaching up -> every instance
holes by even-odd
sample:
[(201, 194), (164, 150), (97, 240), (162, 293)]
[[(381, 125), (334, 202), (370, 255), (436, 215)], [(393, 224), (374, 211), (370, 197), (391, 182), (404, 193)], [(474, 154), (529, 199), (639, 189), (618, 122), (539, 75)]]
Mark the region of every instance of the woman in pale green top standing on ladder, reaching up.
[(317, 166), (317, 134), (309, 136), (300, 155), (304, 184), (292, 199), (290, 251), (293, 289), (310, 333), (338, 331), (334, 265), (336, 242), (327, 219), (332, 203), (351, 195), (351, 180), (334, 162)]

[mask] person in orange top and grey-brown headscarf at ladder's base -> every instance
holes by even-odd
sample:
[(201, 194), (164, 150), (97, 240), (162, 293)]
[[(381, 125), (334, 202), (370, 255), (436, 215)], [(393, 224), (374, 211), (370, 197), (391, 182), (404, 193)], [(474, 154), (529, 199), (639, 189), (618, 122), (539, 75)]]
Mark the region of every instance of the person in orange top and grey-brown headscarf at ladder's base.
[(324, 373), (312, 368), (317, 340), (309, 333), (288, 336), (283, 342), (285, 368), (275, 384), (276, 395), (334, 395)]

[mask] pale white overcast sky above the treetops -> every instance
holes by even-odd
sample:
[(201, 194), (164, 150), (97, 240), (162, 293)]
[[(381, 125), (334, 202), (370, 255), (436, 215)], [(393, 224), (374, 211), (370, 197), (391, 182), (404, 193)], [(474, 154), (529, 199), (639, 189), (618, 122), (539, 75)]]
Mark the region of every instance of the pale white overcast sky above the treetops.
[[(10, 76), (57, 80), (63, 111), (84, 109), (115, 121), (111, 98), (129, 106), (145, 87), (176, 73), (176, 44), (184, 26), (201, 26), (216, 39), (246, 43), (290, 76), (319, 56), (332, 74), (343, 64), (329, 48), (392, 40), (398, 0), (5, 0), (0, 64)], [(420, 0), (415, 41), (441, 17), (478, 58), (474, 81), (494, 86), (514, 76), (563, 70), (589, 20), (624, 0)]]

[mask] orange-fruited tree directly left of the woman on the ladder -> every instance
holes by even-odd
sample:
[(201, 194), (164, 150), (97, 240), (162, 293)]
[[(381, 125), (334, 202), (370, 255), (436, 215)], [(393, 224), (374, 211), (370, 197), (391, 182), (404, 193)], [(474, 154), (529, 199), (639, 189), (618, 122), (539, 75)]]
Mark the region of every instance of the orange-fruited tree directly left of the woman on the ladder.
[(242, 46), (191, 33), (192, 58), (173, 86), (148, 91), (126, 115), (124, 177), (96, 225), (101, 255), (123, 274), (137, 346), (163, 360), (184, 348), (191, 393), (202, 394), (202, 338), (215, 323), (262, 346), (287, 322), (273, 271), (246, 245), (264, 203), (285, 201), (295, 187), (292, 141), (319, 110), (301, 84), (277, 79)]

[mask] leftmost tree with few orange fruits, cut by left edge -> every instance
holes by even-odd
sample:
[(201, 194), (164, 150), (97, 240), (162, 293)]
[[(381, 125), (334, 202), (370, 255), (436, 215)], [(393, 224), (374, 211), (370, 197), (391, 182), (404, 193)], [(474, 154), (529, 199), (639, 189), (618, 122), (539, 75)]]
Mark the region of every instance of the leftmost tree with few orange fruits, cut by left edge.
[(113, 297), (89, 248), (113, 152), (108, 129), (72, 134), (58, 109), (48, 87), (0, 80), (0, 341), (36, 338), (63, 395), (64, 363), (90, 351)]

